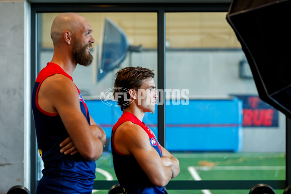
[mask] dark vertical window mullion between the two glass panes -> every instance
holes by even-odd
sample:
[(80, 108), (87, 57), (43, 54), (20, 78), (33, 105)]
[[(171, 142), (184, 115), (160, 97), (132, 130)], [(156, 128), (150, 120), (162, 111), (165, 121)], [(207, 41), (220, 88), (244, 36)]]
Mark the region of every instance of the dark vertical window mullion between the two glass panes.
[[(158, 11), (158, 89), (165, 89), (165, 12)], [(165, 146), (165, 95), (159, 93), (159, 101), (163, 102), (158, 106), (158, 141)]]

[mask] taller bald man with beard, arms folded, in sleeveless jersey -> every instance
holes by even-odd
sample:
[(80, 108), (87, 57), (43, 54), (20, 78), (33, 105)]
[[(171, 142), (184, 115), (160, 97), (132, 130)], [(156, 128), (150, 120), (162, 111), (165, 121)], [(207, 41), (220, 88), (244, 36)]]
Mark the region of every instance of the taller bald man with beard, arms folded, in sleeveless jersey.
[(51, 26), (54, 53), (41, 70), (32, 93), (32, 111), (43, 177), (36, 194), (91, 194), (95, 161), (106, 136), (90, 116), (72, 75), (77, 64), (88, 66), (95, 42), (87, 19), (58, 15)]

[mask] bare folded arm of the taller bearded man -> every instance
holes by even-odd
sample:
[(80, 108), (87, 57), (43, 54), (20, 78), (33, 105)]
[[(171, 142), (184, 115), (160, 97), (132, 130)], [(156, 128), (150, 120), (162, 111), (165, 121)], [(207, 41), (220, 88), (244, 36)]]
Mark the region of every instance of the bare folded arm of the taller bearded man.
[(104, 131), (97, 125), (88, 124), (80, 109), (78, 91), (70, 79), (60, 74), (47, 78), (40, 86), (38, 102), (45, 111), (59, 113), (83, 158), (95, 161), (101, 156)]

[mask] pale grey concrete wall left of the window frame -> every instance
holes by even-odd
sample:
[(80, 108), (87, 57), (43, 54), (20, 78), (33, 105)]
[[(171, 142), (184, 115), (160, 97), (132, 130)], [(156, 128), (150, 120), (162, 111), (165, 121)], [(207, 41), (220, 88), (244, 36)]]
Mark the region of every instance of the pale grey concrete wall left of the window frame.
[(30, 184), (28, 8), (0, 0), (0, 194)]

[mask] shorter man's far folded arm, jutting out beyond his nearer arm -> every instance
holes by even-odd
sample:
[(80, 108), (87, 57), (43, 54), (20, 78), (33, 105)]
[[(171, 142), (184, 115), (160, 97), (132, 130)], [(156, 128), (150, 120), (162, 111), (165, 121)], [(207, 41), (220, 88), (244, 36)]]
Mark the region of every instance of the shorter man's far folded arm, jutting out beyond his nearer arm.
[(169, 166), (171, 168), (172, 178), (177, 177), (180, 172), (179, 161), (177, 158), (172, 156), (172, 154), (170, 154), (170, 152), (168, 152), (168, 150), (166, 150), (164, 147), (162, 147), (161, 160), (165, 166)]

